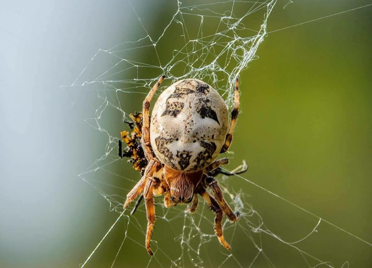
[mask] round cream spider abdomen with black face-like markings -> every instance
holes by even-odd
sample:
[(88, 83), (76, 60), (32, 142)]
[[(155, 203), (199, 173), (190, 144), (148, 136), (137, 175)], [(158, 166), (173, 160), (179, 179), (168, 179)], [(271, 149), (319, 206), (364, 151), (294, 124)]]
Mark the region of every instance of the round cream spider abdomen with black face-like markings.
[(221, 151), (227, 128), (227, 106), (218, 92), (201, 80), (184, 79), (154, 105), (151, 146), (160, 162), (175, 170), (200, 170)]

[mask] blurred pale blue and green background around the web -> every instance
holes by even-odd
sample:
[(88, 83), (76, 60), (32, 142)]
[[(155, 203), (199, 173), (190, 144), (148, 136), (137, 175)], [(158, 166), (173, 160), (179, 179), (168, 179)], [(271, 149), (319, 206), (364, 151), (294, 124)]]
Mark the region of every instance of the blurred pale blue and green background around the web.
[[(243, 111), (229, 168), (245, 159), (245, 178), (371, 243), (372, 6), (275, 31), (371, 2), (287, 3), (276, 4), (260, 58), (241, 73)], [(174, 3), (165, 1), (132, 4), (154, 31), (174, 13)], [(132, 40), (140, 24), (127, 1), (3, 1), (0, 14), (0, 267), (79, 267), (118, 213), (77, 176), (104, 154), (107, 136), (84, 121), (81, 111), (92, 108), (74, 103), (60, 86), (72, 84), (98, 49)], [(139, 110), (143, 95), (126, 96), (125, 110)], [(125, 176), (135, 180), (138, 174), (124, 162)], [(303, 237), (318, 221), (242, 179), (232, 178), (229, 187), (249, 194), (246, 202), (286, 241)], [(172, 222), (176, 232), (182, 224)], [(86, 267), (111, 267), (124, 227), (124, 221), (115, 226)], [(154, 239), (168, 242), (172, 256), (179, 242), (167, 230), (159, 220)], [(143, 234), (133, 237), (140, 246), (126, 241), (114, 267), (148, 264)], [(232, 243), (242, 267), (257, 254), (247, 240), (235, 235)], [(275, 267), (308, 267), (276, 239), (263, 237), (263, 245)], [(334, 267), (346, 261), (372, 266), (371, 245), (327, 223), (300, 248)], [(226, 252), (217, 239), (203, 250), (209, 253), (205, 267), (221, 265)], [(274, 265), (260, 256), (251, 267)]]

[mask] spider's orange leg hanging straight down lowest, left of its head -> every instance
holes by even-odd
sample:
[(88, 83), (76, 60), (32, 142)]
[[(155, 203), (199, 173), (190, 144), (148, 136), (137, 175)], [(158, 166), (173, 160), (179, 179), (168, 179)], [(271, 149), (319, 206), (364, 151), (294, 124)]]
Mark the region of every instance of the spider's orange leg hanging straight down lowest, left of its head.
[(155, 177), (150, 177), (144, 188), (145, 206), (147, 214), (147, 230), (146, 230), (146, 249), (148, 254), (153, 255), (150, 248), (151, 236), (153, 235), (154, 224), (156, 220), (155, 216), (155, 205), (153, 197), (153, 189), (160, 185), (160, 179)]

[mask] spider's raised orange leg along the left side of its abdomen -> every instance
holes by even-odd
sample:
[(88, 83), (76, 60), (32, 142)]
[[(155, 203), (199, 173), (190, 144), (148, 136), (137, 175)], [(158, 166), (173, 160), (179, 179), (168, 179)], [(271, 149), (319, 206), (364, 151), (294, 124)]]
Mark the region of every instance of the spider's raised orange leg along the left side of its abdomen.
[(150, 120), (149, 120), (149, 112), (150, 112), (150, 101), (153, 98), (155, 91), (160, 86), (161, 82), (164, 80), (164, 75), (162, 75), (158, 82), (151, 88), (150, 92), (148, 92), (145, 100), (142, 104), (142, 145), (144, 147), (145, 156), (147, 160), (154, 157), (153, 149), (151, 148), (150, 143)]

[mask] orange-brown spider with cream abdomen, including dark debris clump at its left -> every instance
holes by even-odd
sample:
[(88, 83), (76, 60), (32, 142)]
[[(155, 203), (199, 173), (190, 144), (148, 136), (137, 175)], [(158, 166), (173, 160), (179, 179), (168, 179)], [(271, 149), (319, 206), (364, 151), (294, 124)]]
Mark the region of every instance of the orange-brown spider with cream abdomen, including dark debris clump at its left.
[[(127, 147), (122, 153), (119, 141), (119, 156), (131, 157), (129, 161), (142, 175), (126, 196), (124, 209), (143, 192), (131, 214), (144, 196), (148, 222), (145, 247), (153, 255), (150, 247), (156, 219), (153, 197), (164, 195), (164, 206), (168, 208), (192, 202), (189, 212), (195, 212), (200, 195), (216, 214), (214, 231), (219, 242), (231, 249), (222, 232), (222, 216), (225, 213), (230, 221), (236, 222), (239, 213), (235, 214), (227, 204), (214, 177), (219, 173), (238, 174), (222, 171), (221, 166), (228, 164), (228, 158), (215, 160), (231, 145), (239, 108), (238, 79), (230, 125), (224, 100), (214, 88), (198, 79), (183, 79), (164, 90), (155, 102), (150, 122), (150, 101), (164, 77), (159, 78), (143, 101), (142, 114), (129, 115), (133, 122), (124, 121), (134, 130), (131, 137), (127, 131), (121, 132)], [(206, 191), (207, 187), (213, 196)]]

